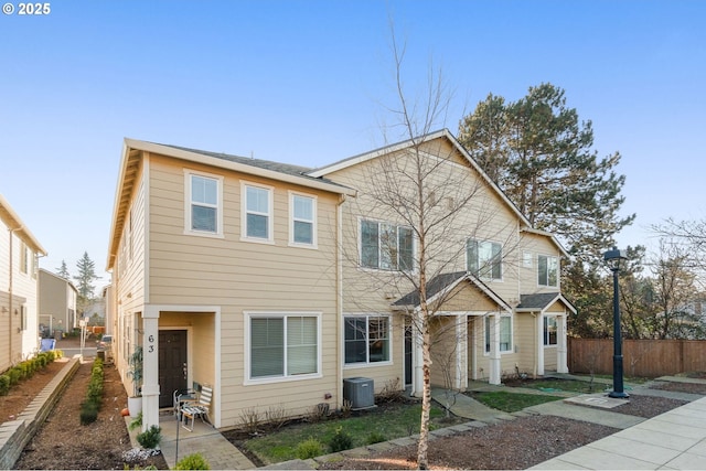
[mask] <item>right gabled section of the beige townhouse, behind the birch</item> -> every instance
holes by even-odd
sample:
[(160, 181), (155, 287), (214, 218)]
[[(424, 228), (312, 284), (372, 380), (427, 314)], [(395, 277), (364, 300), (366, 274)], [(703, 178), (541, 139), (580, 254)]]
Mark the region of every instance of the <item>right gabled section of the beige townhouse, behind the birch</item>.
[(469, 379), (568, 372), (575, 308), (559, 282), (568, 254), (532, 227), (448, 130), (309, 174), (357, 190), (341, 220), (344, 377), (421, 394), (420, 263), (435, 320), (432, 384), (463, 389)]

